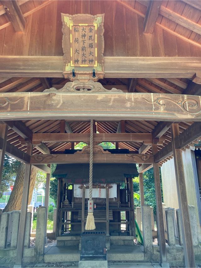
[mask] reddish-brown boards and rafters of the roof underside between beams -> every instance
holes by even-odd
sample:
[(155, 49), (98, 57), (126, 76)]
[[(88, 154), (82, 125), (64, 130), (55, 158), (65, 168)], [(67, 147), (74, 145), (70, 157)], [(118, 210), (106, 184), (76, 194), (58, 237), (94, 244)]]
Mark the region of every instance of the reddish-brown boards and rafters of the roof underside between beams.
[[(0, 55), (62, 56), (62, 22), (60, 13), (105, 13), (104, 56), (200, 56), (200, 1), (162, 1), (152, 35), (143, 34), (143, 20), (148, 1), (18, 1), (26, 20), (24, 33), (14, 31), (0, 2)], [(171, 11), (172, 17), (168, 15)], [(176, 13), (176, 15), (175, 15)], [(177, 23), (178, 16), (181, 24)], [(121, 19), (119, 19), (121, 18)], [(176, 18), (176, 19), (175, 19)], [(192, 27), (193, 30), (192, 30)], [(119, 42), (119, 40), (124, 40)], [(136, 78), (135, 78), (136, 79)], [(48, 82), (46, 82), (48, 81)], [(42, 92), (50, 87), (61, 88), (64, 78), (0, 77), (0, 93)], [(113, 85), (125, 92), (182, 94), (191, 80), (187, 78), (107, 78), (99, 82)], [(60, 120), (29, 120), (24, 124), (34, 133), (59, 133)], [(90, 123), (69, 122), (73, 133), (90, 132)], [(125, 121), (125, 132), (151, 133), (157, 121)], [(180, 132), (193, 122), (180, 122)], [(116, 133), (118, 122), (97, 122), (100, 133)], [(170, 129), (160, 150), (171, 141)], [(19, 135), (9, 129), (8, 142), (26, 152)], [(71, 148), (69, 142), (46, 143), (51, 151)], [(138, 151), (139, 142), (119, 142), (119, 148)], [(40, 153), (34, 148), (34, 154)], [(152, 153), (151, 148), (147, 153)], [(169, 159), (169, 158), (167, 158)], [(166, 159), (162, 162), (167, 161)], [(161, 162), (161, 163), (162, 163)]]

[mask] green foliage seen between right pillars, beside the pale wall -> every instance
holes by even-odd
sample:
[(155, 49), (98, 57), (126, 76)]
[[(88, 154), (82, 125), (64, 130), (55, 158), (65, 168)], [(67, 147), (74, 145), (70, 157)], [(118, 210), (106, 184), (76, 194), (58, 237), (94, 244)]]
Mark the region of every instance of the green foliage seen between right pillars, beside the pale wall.
[[(154, 214), (156, 213), (156, 196), (155, 196), (155, 184), (154, 184), (154, 170), (153, 168), (147, 170), (143, 173), (144, 180), (144, 202), (149, 206), (153, 206)], [(161, 172), (160, 172), (160, 181), (161, 181)], [(162, 182), (161, 184), (161, 193), (162, 193)], [(134, 191), (134, 205), (140, 206), (139, 195), (139, 182), (133, 180), (133, 191)], [(136, 195), (138, 194), (138, 195)], [(163, 200), (163, 196), (162, 196)]]

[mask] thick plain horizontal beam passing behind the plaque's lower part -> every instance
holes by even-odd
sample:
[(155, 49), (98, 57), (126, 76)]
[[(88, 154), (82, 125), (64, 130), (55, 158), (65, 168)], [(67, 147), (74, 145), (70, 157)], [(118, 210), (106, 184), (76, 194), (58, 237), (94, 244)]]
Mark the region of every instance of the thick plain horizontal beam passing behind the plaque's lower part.
[[(0, 62), (0, 76), (63, 77), (62, 56), (0, 56)], [(201, 57), (105, 57), (104, 65), (106, 78), (193, 78)]]

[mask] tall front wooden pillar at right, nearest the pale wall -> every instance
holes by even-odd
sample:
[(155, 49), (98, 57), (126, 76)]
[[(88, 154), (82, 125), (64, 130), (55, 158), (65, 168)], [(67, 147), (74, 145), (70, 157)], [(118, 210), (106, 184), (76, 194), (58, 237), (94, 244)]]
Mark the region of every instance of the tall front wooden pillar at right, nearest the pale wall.
[(177, 182), (178, 203), (181, 213), (181, 228), (182, 228), (185, 266), (195, 267), (193, 239), (191, 233), (191, 223), (189, 218), (186, 183), (185, 183), (185, 175), (182, 160), (182, 149), (175, 149), (175, 142), (174, 142), (174, 138), (179, 135), (178, 124), (171, 125), (171, 135), (172, 135), (172, 149), (175, 163), (176, 182)]

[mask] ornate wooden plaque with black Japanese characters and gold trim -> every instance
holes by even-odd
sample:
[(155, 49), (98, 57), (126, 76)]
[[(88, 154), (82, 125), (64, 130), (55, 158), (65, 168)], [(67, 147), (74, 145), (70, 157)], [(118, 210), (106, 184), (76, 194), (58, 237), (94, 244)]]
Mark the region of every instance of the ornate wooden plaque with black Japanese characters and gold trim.
[(104, 77), (104, 14), (62, 13), (63, 75), (71, 81)]

